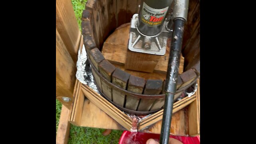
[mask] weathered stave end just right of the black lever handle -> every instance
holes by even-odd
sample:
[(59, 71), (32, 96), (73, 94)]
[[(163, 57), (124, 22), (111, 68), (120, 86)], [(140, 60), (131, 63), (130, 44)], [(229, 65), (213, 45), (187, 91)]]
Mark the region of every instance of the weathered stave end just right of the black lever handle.
[(182, 86), (180, 86), (180, 88), (184, 88), (185, 86), (190, 84), (196, 78), (196, 73), (194, 72), (194, 70), (189, 69), (186, 72), (183, 72), (180, 75), (180, 78), (183, 81), (183, 84), (182, 84)]

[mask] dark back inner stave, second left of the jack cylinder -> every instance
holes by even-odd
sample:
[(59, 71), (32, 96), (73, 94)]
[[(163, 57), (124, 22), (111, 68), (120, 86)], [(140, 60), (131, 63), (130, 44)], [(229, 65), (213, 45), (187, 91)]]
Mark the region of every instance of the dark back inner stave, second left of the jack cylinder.
[(126, 5), (127, 0), (116, 1), (117, 27), (126, 23)]

